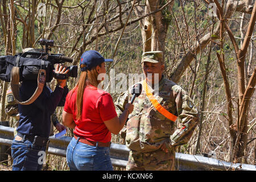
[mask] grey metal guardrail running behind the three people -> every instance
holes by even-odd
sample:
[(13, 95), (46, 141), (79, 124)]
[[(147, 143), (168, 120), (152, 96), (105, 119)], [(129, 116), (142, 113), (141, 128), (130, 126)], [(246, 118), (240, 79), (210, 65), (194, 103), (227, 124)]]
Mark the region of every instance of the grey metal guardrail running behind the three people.
[[(0, 125), (0, 144), (11, 146), (14, 139), (14, 128)], [(66, 149), (71, 137), (49, 137), (48, 154), (66, 156)], [(129, 149), (122, 144), (112, 143), (110, 158), (113, 166), (126, 167)], [(176, 153), (176, 168), (180, 171), (209, 171), (209, 170), (239, 170), (256, 171), (256, 166), (250, 164), (229, 163), (218, 159), (207, 158), (199, 155)]]

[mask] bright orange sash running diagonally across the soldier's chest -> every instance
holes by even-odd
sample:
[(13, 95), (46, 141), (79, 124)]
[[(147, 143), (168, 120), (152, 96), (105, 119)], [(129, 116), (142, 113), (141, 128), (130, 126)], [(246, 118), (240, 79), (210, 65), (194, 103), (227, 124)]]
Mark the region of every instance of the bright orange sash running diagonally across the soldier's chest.
[(170, 113), (168, 110), (164, 109), (164, 107), (162, 105), (159, 104), (159, 102), (155, 99), (153, 94), (150, 92), (150, 89), (147, 86), (146, 80), (143, 80), (142, 86), (143, 86), (144, 90), (146, 91), (147, 97), (149, 98), (150, 102), (155, 107), (155, 109), (158, 110), (159, 113), (163, 114), (166, 118), (175, 122), (177, 119), (176, 115)]

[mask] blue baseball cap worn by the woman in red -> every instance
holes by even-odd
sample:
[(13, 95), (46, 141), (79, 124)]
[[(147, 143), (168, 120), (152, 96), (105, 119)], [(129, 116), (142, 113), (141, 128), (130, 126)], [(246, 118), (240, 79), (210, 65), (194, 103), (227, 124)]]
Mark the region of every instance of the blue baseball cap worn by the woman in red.
[(81, 71), (90, 70), (103, 62), (111, 62), (113, 59), (105, 59), (100, 53), (94, 50), (85, 51), (80, 59)]

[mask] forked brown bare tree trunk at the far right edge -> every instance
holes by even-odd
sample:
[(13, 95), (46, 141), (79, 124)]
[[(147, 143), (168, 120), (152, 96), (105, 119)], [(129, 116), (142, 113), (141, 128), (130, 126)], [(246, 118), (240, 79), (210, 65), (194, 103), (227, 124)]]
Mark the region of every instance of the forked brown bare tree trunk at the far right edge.
[[(234, 49), (236, 51), (236, 56), (237, 56), (237, 70), (238, 70), (238, 92), (239, 92), (239, 99), (238, 99), (238, 119), (237, 119), (237, 124), (234, 125), (232, 123), (232, 107), (230, 107), (232, 104), (230, 98), (230, 91), (228, 91), (228, 85), (226, 85), (228, 83), (228, 81), (226, 80), (225, 77), (224, 78), (224, 84), (225, 84), (225, 88), (226, 88), (226, 97), (227, 97), (227, 102), (229, 103), (230, 106), (228, 106), (228, 114), (229, 114), (229, 131), (230, 131), (230, 137), (231, 137), (231, 148), (233, 148), (234, 150), (234, 155), (233, 156), (233, 162), (237, 162), (238, 159), (243, 156), (243, 151), (246, 147), (246, 140), (247, 140), (247, 117), (245, 116), (246, 114), (246, 109), (243, 110), (243, 113), (241, 112), (241, 107), (242, 107), (242, 99), (244, 97), (244, 93), (245, 93), (245, 55), (247, 52), (247, 47), (250, 41), (250, 36), (252, 34), (253, 31), (253, 27), (255, 24), (255, 5), (254, 5), (254, 9), (252, 10), (250, 5), (250, 0), (244, 0), (240, 3), (236, 3), (232, 0), (228, 1), (227, 5), (226, 5), (226, 14), (224, 16), (223, 13), (223, 9), (220, 6), (220, 4), (218, 3), (217, 0), (214, 0), (216, 6), (217, 6), (217, 15), (218, 18), (221, 20), (221, 31), (224, 31), (224, 26), (226, 28), (226, 31), (228, 31), (229, 37), (232, 41), (232, 44), (234, 46)], [(244, 11), (246, 9), (246, 11)], [(245, 40), (243, 42), (243, 45), (241, 47), (241, 49), (238, 49), (236, 40), (234, 39), (234, 36), (232, 34), (232, 31), (230, 30), (230, 28), (226, 25), (226, 23), (224, 22), (224, 20), (227, 20), (228, 18), (230, 18), (230, 16), (233, 14), (234, 11), (241, 11), (241, 12), (245, 12), (245, 13), (251, 13), (251, 19), (250, 19), (250, 23), (249, 23), (249, 27), (247, 29), (246, 32), (246, 36), (245, 36)], [(224, 19), (225, 18), (225, 19)], [(222, 36), (223, 32), (221, 32), (221, 36)], [(222, 40), (222, 38), (220, 39)], [(221, 49), (222, 52), (222, 49)], [(220, 67), (221, 67), (221, 72), (222, 72), (222, 76), (225, 76), (225, 64), (224, 64), (224, 55), (220, 56), (217, 53), (217, 57), (220, 63)], [(226, 80), (226, 81), (225, 81)], [(243, 116), (242, 121), (240, 122), (240, 118), (241, 115)], [(240, 126), (242, 127), (242, 129), (240, 128)], [(242, 141), (241, 141), (242, 140)], [(233, 146), (234, 145), (234, 146)], [(230, 154), (232, 154), (232, 152), (229, 150)]]

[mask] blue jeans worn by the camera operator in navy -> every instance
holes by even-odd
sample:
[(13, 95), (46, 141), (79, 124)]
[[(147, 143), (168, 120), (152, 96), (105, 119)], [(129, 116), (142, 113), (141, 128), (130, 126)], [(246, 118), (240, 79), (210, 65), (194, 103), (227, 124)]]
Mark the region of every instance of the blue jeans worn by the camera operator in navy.
[(45, 151), (46, 147), (33, 145), (29, 140), (16, 141), (14, 138), (11, 145), (13, 171), (40, 171)]

